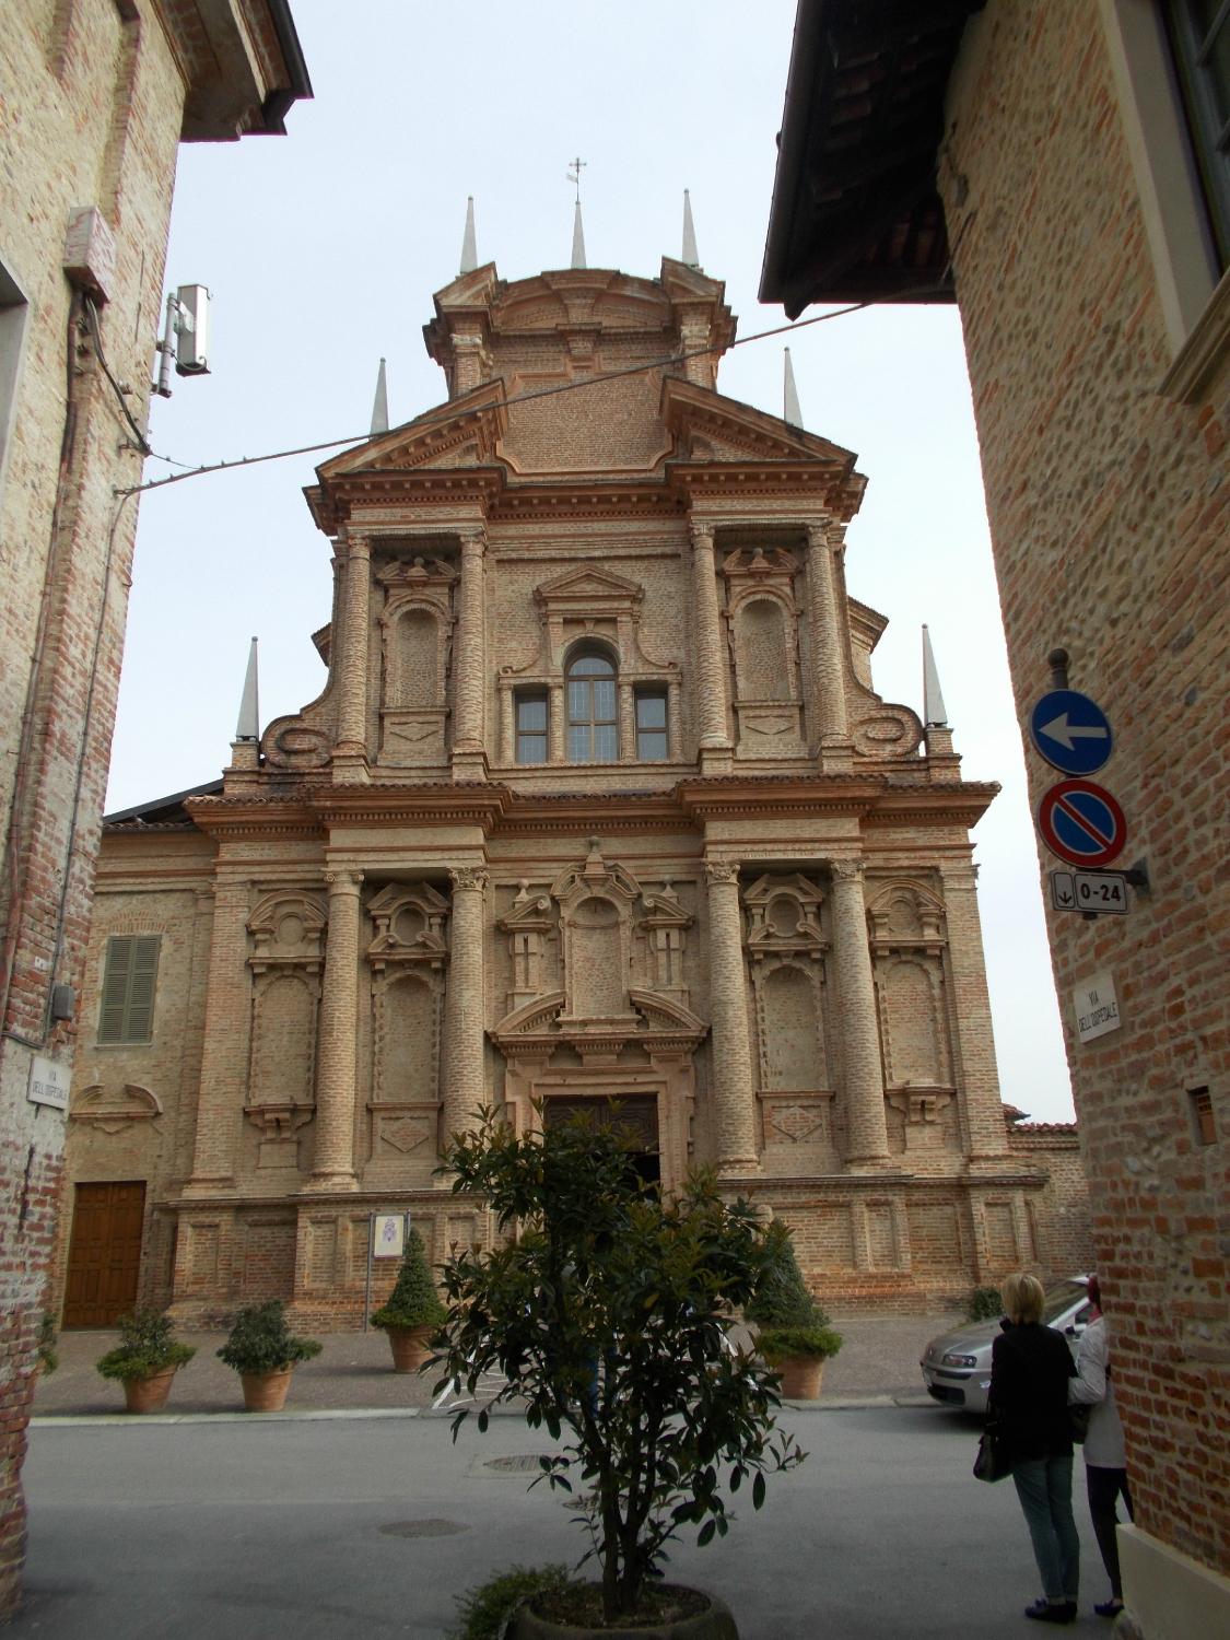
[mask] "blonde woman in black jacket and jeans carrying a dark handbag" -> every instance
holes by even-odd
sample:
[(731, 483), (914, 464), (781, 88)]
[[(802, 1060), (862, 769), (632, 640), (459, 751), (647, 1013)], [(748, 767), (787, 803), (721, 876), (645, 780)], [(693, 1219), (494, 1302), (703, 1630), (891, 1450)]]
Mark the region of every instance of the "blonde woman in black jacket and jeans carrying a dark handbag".
[(1041, 1325), (1045, 1292), (1036, 1276), (1009, 1276), (1000, 1297), (1005, 1320), (991, 1346), (989, 1417), (999, 1422), (1012, 1460), (1012, 1481), (1041, 1576), (1041, 1599), (1027, 1606), (1025, 1615), (1071, 1624), (1081, 1574), (1068, 1428), (1068, 1379), (1076, 1376), (1076, 1366), (1063, 1333)]

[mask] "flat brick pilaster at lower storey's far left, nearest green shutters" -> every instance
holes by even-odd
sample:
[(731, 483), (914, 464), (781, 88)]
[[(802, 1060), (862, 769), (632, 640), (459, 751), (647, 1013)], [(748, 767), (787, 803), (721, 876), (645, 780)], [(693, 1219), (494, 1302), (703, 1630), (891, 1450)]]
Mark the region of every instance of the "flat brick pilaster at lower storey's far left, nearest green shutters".
[(251, 1025), (248, 897), (248, 882), (233, 877), (220, 877), (213, 891), (197, 1135), (192, 1178), (184, 1186), (189, 1197), (212, 1196), (235, 1182)]

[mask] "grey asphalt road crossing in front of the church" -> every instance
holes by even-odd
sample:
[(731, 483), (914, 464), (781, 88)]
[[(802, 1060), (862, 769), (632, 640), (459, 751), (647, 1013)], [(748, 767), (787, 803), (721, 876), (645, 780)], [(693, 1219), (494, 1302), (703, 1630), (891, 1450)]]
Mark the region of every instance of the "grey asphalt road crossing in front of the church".
[[(731, 1602), (743, 1640), (1036, 1629), (1015, 1494), (971, 1478), (966, 1419), (874, 1407), (782, 1422), (809, 1461), (725, 1542), (686, 1543), (672, 1565)], [(581, 1528), (518, 1468), (546, 1450), (513, 1417), (456, 1446), (448, 1420), (407, 1414), (36, 1427), (28, 1596), (10, 1633), (438, 1640), (454, 1596), (487, 1573), (579, 1558)], [(1087, 1612), (1104, 1589), (1082, 1504), (1077, 1517)], [(1074, 1632), (1107, 1625), (1087, 1615)]]

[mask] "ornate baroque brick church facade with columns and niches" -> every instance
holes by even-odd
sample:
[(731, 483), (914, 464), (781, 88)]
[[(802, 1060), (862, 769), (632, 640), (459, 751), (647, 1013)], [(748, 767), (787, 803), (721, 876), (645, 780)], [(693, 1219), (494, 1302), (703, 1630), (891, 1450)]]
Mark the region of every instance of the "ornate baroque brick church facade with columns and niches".
[(185, 1320), (358, 1325), (374, 1212), (489, 1243), (438, 1171), (484, 1105), (617, 1100), (651, 1176), (712, 1166), (833, 1301), (1066, 1271), (1074, 1132), (1015, 1130), (995, 1076), (997, 787), (874, 692), (854, 458), (718, 394), (694, 266), (487, 264), (435, 308), (448, 402), (308, 490), (323, 692), (107, 828), (66, 1325), (125, 1235)]

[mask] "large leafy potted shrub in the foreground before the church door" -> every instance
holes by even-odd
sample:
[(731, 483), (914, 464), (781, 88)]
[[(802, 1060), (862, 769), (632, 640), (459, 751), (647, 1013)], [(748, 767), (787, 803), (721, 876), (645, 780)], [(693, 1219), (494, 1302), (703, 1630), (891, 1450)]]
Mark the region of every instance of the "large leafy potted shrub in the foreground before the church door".
[(584, 1560), (600, 1569), (600, 1583), (531, 1594), (508, 1630), (520, 1640), (612, 1624), (645, 1640), (731, 1640), (720, 1601), (659, 1581), (667, 1545), (687, 1528), (699, 1543), (725, 1535), (723, 1484), (749, 1483), (759, 1509), (766, 1474), (804, 1460), (776, 1432), (774, 1374), (725, 1343), (764, 1273), (764, 1227), (746, 1202), (723, 1202), (712, 1174), (664, 1199), (636, 1178), (630, 1148), (610, 1125), (574, 1118), (518, 1137), (485, 1110), (444, 1159), (453, 1189), (482, 1197), (508, 1240), (443, 1266), (438, 1387), (474, 1396), (484, 1373), (503, 1378), (479, 1428), (512, 1402), (559, 1443), (531, 1484), (574, 1497)]

